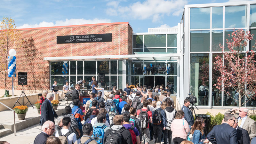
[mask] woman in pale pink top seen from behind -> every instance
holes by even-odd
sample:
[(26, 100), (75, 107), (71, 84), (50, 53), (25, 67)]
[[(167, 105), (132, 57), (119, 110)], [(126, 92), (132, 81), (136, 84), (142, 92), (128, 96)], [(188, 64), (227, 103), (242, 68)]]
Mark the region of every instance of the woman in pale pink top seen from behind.
[(178, 110), (175, 119), (172, 121), (172, 140), (174, 144), (180, 144), (184, 140), (188, 140), (187, 133), (190, 131), (188, 122), (183, 119), (185, 116), (182, 110)]

